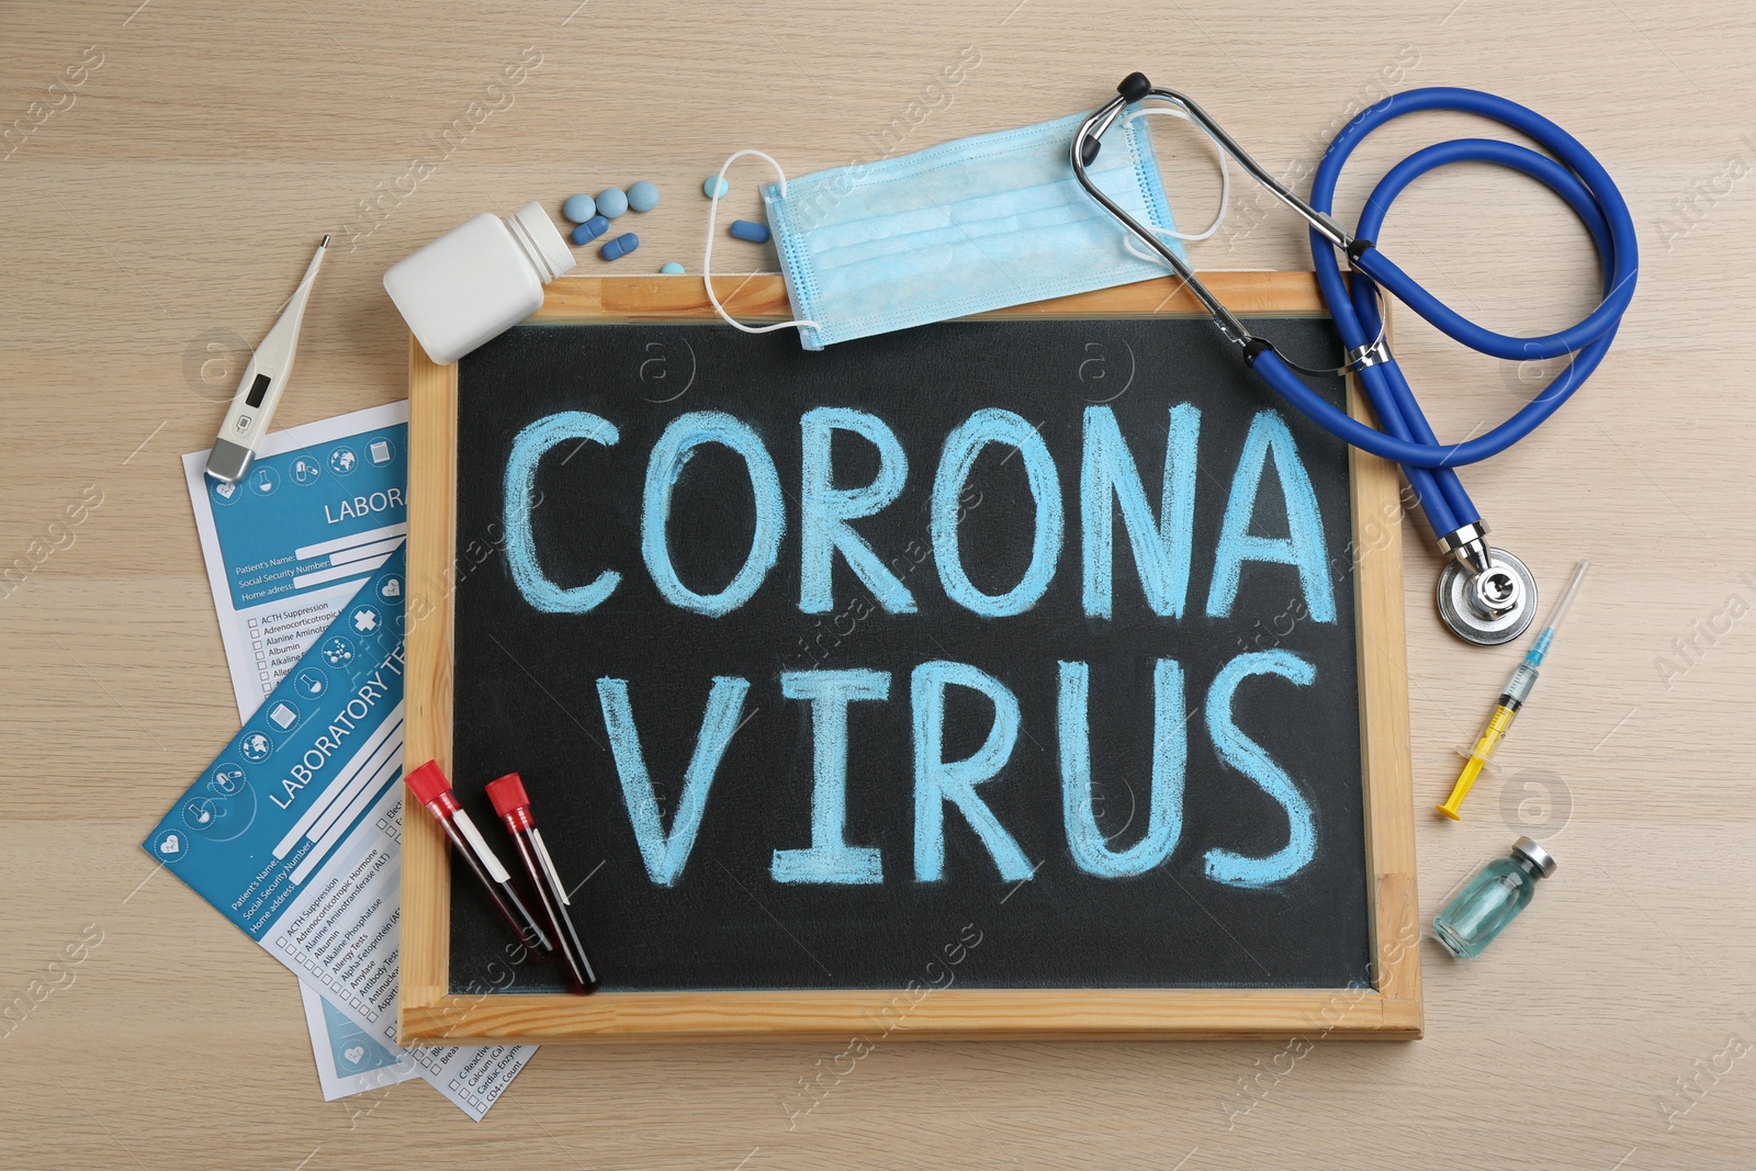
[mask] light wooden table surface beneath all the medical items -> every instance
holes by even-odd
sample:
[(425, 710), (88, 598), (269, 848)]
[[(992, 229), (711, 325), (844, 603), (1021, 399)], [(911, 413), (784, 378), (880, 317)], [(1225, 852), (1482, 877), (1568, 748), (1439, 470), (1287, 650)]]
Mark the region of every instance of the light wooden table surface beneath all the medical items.
[[(0, 1024), (0, 1164), (1751, 1166), (1747, 12), (137, 4), (0, 16), (0, 1002), (26, 1004)], [(931, 88), (961, 54), (976, 61), (962, 83)], [(536, 61), (522, 84), (488, 88), (520, 60)], [(137, 848), (237, 727), (177, 456), (211, 442), (316, 239), (337, 248), (283, 427), (404, 397), (406, 334), (379, 277), (467, 214), (653, 179), (664, 204), (622, 270), (697, 272), (699, 184), (732, 149), (802, 174), (1085, 109), (1131, 68), (1294, 177), (1385, 90), (1491, 90), (1580, 137), (1633, 209), (1645, 263), (1610, 358), (1549, 427), (1465, 472), (1549, 597), (1575, 558), (1594, 562), (1501, 774), (1461, 825), (1417, 827), (1426, 916), (1519, 832), (1561, 862), (1535, 906), (1475, 964), (1426, 945), (1414, 1043), (896, 1043), (795, 1125), (783, 1103), (841, 1045), (550, 1046), (479, 1125), (418, 1081), (325, 1104), (293, 978)], [(1342, 207), (1412, 147), (1475, 130), (1428, 116), (1384, 132)], [(1198, 221), (1219, 191), (1208, 153), (1182, 128), (1157, 135)], [(739, 163), (730, 209), (753, 212), (764, 177)], [(1380, 244), (1508, 332), (1594, 304), (1584, 232), (1507, 172), (1431, 176)], [(1192, 251), (1206, 269), (1310, 263), (1299, 225), (1241, 184), (1227, 228)], [(1533, 370), (1410, 314), (1398, 328), (1442, 435), (1533, 393)], [(56, 523), (81, 500), (79, 523)], [(1424, 806), (1515, 653), (1440, 629), (1438, 562), (1408, 532)], [(83, 932), (102, 943), (49, 974)], [(33, 999), (35, 980), (58, 987)]]

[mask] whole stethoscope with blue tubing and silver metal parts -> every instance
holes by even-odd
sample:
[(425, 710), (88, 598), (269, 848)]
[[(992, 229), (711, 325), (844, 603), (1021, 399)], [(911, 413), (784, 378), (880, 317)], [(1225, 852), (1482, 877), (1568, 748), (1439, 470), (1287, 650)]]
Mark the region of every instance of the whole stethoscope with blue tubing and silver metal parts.
[[(1356, 421), (1306, 386), (1294, 374), (1294, 369), (1305, 367), (1296, 367), (1275, 349), (1273, 342), (1250, 334), (1196, 277), (1194, 269), (1182, 256), (1171, 251), (1152, 228), (1117, 207), (1085, 174), (1085, 167), (1098, 158), (1103, 133), (1127, 105), (1143, 98), (1159, 98), (1182, 109), (1226, 154), (1250, 172), (1252, 179), (1310, 225), (1317, 284), (1331, 318), (1335, 318), (1342, 344), (1347, 348), (1347, 365), (1340, 370), (1306, 372), (1357, 372), (1380, 427)], [(1491, 118), (1547, 147), (1559, 162), (1529, 147), (1494, 139), (1456, 139), (1433, 144), (1405, 158), (1378, 181), (1359, 214), (1357, 230), (1350, 235), (1329, 218), (1342, 165), (1368, 133), (1393, 118), (1419, 111), (1459, 111)], [(1623, 202), (1621, 191), (1616, 190), (1616, 183), (1598, 160), (1573, 135), (1517, 102), (1479, 90), (1449, 86), (1410, 90), (1384, 98), (1342, 128), (1317, 165), (1312, 202), (1306, 204), (1245, 154), (1243, 147), (1206, 111), (1175, 90), (1155, 90), (1143, 74), (1124, 77), (1122, 84), (1117, 86), (1117, 97), (1080, 123), (1080, 130), (1073, 137), (1071, 158), (1073, 174), (1078, 176), (1080, 186), (1182, 277), (1208, 316), (1213, 318), (1220, 334), (1243, 351), (1243, 360), (1252, 370), (1324, 430), (1403, 465), (1408, 486), (1438, 537), (1440, 553), (1450, 558), (1438, 579), (1438, 609), (1445, 625), (1459, 637), (1480, 646), (1498, 646), (1519, 637), (1536, 614), (1536, 579), (1524, 562), (1487, 544), (1487, 525), (1463, 490), (1456, 469), (1498, 455), (1535, 430), (1579, 390), (1616, 339), (1623, 313), (1635, 293), (1640, 262), (1628, 204)], [(1591, 233), (1603, 263), (1603, 300), (1584, 321), (1545, 337), (1508, 337), (1484, 330), (1421, 288), (1373, 246), (1371, 237), (1384, 223), (1384, 212), (1389, 211), (1391, 200), (1405, 186), (1435, 167), (1459, 162), (1510, 167), (1547, 184), (1568, 202)], [(1336, 249), (1347, 255), (1356, 274), (1352, 283), (1342, 277)], [(1568, 365), (1536, 399), (1500, 427), (1465, 442), (1442, 444), (1433, 435), (1433, 428), (1428, 427), (1401, 367), (1385, 344), (1384, 314), (1378, 307), (1380, 288), (1389, 290), (1443, 334), (1472, 349), (1510, 362), (1565, 356)]]

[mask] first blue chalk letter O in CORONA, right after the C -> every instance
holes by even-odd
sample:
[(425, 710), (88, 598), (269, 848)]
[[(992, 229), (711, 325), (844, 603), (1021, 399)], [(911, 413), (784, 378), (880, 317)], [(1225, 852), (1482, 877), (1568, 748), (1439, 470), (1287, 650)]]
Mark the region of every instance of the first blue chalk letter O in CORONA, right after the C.
[[(757, 500), (757, 530), (750, 539), (750, 555), (743, 567), (718, 593), (695, 593), (685, 586), (671, 564), (671, 546), (666, 530), (671, 521), (671, 490), (695, 448), (716, 442), (743, 456), (750, 472), (750, 488)], [(762, 439), (750, 427), (723, 411), (695, 411), (678, 416), (653, 446), (646, 462), (646, 490), (641, 495), (641, 557), (653, 585), (673, 606), (692, 609), (709, 618), (732, 613), (750, 600), (767, 571), (780, 557), (780, 539), (787, 532), (787, 509), (780, 499), (780, 474)]]

